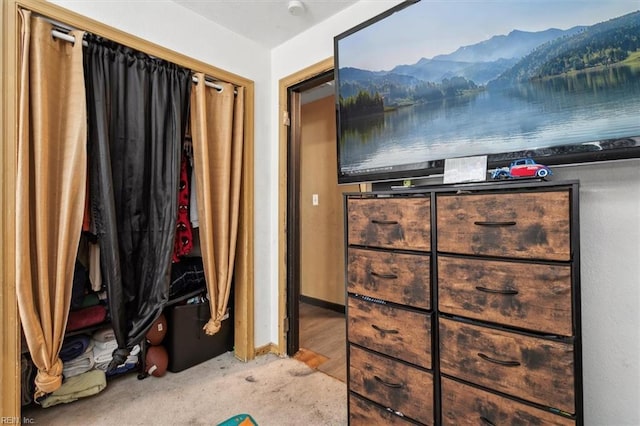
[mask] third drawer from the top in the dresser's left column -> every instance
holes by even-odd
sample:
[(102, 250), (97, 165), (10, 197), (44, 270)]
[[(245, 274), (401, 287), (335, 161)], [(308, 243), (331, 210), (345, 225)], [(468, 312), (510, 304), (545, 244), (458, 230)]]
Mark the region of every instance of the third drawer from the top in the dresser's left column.
[(431, 317), (349, 297), (347, 338), (350, 342), (431, 368)]

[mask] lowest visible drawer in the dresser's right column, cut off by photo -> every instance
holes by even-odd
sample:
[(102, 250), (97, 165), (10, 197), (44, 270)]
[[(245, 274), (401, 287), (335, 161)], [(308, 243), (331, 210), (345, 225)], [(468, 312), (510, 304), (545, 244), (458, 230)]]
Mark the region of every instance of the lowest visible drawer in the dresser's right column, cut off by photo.
[(485, 392), (447, 377), (441, 379), (441, 386), (443, 425), (575, 425), (572, 419)]

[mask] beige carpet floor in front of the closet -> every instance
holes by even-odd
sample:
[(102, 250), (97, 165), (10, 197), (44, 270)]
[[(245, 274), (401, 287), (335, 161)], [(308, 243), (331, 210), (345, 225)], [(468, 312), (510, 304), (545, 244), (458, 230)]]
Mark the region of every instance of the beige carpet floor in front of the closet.
[(238, 361), (231, 352), (179, 373), (108, 381), (98, 395), (22, 415), (40, 425), (217, 425), (250, 414), (259, 426), (347, 424), (345, 383), (293, 358)]

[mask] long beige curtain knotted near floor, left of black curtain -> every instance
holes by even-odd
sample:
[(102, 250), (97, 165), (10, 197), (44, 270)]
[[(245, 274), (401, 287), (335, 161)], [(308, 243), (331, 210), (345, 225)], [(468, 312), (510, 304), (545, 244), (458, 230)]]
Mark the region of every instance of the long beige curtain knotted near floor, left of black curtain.
[(36, 398), (62, 384), (65, 333), (86, 187), (83, 33), (54, 39), (21, 11), (16, 275), (18, 308), (34, 364)]

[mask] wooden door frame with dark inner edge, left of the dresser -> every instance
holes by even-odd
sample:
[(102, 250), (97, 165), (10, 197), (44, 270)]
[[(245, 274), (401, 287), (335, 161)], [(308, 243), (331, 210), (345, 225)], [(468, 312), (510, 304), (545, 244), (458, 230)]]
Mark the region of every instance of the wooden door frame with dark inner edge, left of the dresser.
[[(294, 355), (299, 345), (300, 295), (299, 126), (300, 91), (333, 72), (333, 57), (279, 81), (278, 131), (278, 353)], [(333, 77), (331, 76), (330, 79)], [(297, 138), (297, 139), (296, 139)]]

